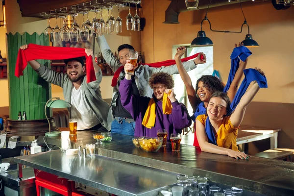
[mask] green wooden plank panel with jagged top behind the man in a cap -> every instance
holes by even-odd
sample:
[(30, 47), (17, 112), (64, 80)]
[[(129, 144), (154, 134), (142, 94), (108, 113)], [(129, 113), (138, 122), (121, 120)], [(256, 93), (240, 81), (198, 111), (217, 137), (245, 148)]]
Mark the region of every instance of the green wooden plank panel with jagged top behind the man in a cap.
[[(17, 78), (14, 76), (15, 64), (20, 46), (33, 43), (49, 46), (49, 41), (44, 39), (44, 34), (33, 33), (29, 35), (16, 33), (7, 35), (7, 62), (8, 62), (8, 86), (9, 86), (9, 108), (10, 118), (17, 120), (18, 112), (25, 111), (27, 120), (44, 119), (44, 107), (46, 101), (51, 98), (50, 84), (28, 65), (24, 75)], [(48, 60), (38, 60), (46, 66)]]

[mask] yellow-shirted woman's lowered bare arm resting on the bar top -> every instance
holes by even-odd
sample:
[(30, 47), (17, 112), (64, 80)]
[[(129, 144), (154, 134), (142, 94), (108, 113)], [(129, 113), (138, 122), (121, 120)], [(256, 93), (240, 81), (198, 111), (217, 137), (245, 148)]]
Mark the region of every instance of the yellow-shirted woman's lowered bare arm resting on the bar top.
[(196, 120), (196, 136), (199, 143), (199, 146), (201, 148), (201, 151), (203, 152), (210, 152), (215, 154), (223, 154), (228, 155), (233, 158), (240, 158), (240, 159), (247, 159), (247, 155), (243, 152), (237, 152), (232, 149), (219, 147), (214, 144), (208, 143), (207, 135), (205, 132), (205, 126), (202, 124), (198, 119)]

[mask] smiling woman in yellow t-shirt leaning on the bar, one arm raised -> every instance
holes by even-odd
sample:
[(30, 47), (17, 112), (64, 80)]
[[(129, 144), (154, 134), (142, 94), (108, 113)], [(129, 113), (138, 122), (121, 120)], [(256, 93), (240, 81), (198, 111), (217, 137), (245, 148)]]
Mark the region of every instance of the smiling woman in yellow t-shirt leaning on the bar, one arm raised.
[[(255, 69), (264, 75), (260, 69)], [(245, 115), (246, 107), (259, 89), (258, 83), (254, 81), (251, 88), (240, 99), (236, 109), (230, 116), (227, 116), (227, 114), (231, 101), (225, 93), (215, 92), (209, 98), (206, 114), (199, 115), (196, 118), (196, 136), (202, 151), (228, 155), (236, 159), (248, 159), (245, 153), (238, 150), (236, 138), (238, 128)], [(206, 121), (208, 117), (209, 119)], [(207, 122), (210, 124), (208, 125)], [(210, 129), (213, 131), (217, 145), (208, 141), (205, 130), (206, 126), (210, 126)]]

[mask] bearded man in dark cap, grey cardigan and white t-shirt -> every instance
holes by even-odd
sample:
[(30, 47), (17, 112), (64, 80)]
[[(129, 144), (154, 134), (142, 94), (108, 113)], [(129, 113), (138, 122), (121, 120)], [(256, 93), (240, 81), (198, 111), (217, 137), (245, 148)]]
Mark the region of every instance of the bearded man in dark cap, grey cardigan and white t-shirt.
[[(21, 46), (20, 49), (27, 49), (28, 46)], [(44, 51), (46, 52), (46, 51)], [(102, 80), (100, 67), (94, 60), (93, 50), (85, 49), (87, 55), (92, 55), (96, 81), (87, 83), (84, 74), (85, 66), (82, 57), (65, 59), (67, 73), (55, 72), (36, 60), (28, 61), (29, 65), (47, 82), (62, 87), (64, 98), (71, 103), (70, 118), (73, 126), (72, 135), (76, 130), (98, 130), (110, 131), (113, 120), (110, 106), (101, 97), (99, 84)]]

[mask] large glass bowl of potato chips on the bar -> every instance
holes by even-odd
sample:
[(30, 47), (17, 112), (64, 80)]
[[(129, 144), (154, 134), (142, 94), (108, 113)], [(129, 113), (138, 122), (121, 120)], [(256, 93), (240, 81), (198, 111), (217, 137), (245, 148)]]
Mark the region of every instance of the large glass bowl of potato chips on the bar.
[(139, 146), (145, 152), (156, 152), (162, 145), (163, 137), (139, 137)]

